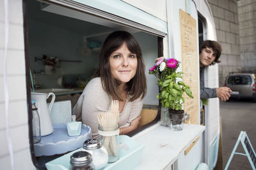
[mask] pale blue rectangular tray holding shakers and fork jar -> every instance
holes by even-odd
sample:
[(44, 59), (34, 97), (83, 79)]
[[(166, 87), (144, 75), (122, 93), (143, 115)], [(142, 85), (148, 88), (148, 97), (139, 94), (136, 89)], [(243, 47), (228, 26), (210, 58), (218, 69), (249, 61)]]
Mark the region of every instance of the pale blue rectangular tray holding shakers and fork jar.
[[(104, 169), (131, 170), (138, 166), (144, 148), (143, 145), (134, 141), (134, 139), (130, 138), (129, 136), (120, 135), (119, 148), (120, 159), (118, 159), (116, 162), (109, 163)], [(75, 150), (74, 152), (79, 150), (81, 150), (81, 148)], [(58, 159), (47, 162), (45, 166), (48, 170), (68, 170), (70, 166), (70, 156), (74, 152), (67, 153)]]

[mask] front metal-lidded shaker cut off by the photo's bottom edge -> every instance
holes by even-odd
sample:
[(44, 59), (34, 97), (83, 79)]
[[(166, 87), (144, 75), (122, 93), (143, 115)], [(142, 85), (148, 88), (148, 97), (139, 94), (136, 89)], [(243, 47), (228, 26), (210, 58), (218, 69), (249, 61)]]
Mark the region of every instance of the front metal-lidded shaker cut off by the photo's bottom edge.
[(85, 151), (70, 156), (70, 170), (93, 170), (92, 155)]

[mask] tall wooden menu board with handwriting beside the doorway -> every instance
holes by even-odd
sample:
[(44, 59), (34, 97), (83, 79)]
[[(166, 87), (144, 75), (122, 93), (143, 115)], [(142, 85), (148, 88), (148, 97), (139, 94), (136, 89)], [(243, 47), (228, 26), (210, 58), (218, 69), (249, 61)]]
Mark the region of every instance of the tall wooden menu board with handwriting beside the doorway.
[(191, 99), (184, 94), (184, 111), (188, 112), (191, 124), (199, 124), (196, 20), (182, 10), (180, 10), (180, 38), (183, 81), (189, 85), (194, 96), (194, 99)]

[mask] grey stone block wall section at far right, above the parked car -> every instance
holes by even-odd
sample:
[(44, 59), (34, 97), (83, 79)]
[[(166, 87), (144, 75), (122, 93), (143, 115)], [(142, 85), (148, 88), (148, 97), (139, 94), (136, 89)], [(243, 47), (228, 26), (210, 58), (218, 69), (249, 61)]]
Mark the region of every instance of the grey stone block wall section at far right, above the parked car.
[(256, 0), (237, 1), (241, 67), (256, 72)]

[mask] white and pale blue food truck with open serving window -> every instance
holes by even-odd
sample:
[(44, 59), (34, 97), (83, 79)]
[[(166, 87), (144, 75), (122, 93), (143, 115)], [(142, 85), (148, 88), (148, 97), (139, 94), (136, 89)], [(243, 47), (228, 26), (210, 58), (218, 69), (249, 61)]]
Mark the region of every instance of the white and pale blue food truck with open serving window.
[[(81, 148), (72, 148), (64, 142), (65, 146), (50, 146), (60, 150), (43, 153), (47, 149), (42, 146), (38, 153), (39, 146), (34, 145), (32, 138), (31, 92), (54, 94), (51, 123), (65, 122), (65, 116), (71, 117), (71, 108), (92, 78), (104, 39), (118, 30), (130, 32), (140, 44), (147, 77), (142, 122), (129, 134), (141, 145), (141, 155), (135, 157), (132, 152), (130, 157), (127, 155), (129, 164), (120, 159), (119, 166), (122, 169), (196, 169), (201, 163), (209, 169), (216, 166), (219, 100), (209, 99), (202, 106), (199, 90), (198, 46), (205, 39), (216, 40), (206, 0), (4, 0), (1, 11), (1, 169), (44, 169), (45, 163), (60, 157), (61, 148), (67, 148), (63, 151), (66, 153)], [(183, 81), (194, 95), (194, 99), (185, 98), (183, 108), (189, 118), (178, 132), (161, 126), (157, 80), (148, 74), (154, 60), (162, 56), (180, 60), (178, 71), (184, 73)], [(218, 64), (205, 70), (205, 85), (218, 87)], [(61, 105), (61, 101), (70, 102)], [(51, 97), (47, 103), (50, 102)], [(54, 110), (57, 115), (52, 116)], [(60, 112), (62, 115), (58, 115)]]

